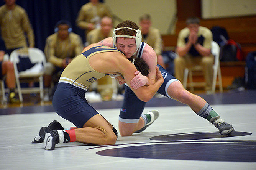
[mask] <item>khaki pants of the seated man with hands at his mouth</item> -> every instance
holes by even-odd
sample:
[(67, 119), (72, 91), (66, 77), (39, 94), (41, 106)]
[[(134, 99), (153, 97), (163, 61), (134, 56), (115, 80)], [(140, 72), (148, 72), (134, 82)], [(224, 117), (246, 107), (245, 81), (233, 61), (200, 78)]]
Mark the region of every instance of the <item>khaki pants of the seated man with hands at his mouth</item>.
[(200, 65), (203, 68), (203, 75), (206, 82), (205, 90), (212, 89), (212, 79), (213, 79), (213, 66), (214, 56), (191, 56), (185, 55), (183, 57), (177, 56), (174, 59), (174, 71), (175, 77), (183, 82), (184, 69), (191, 68), (196, 65)]

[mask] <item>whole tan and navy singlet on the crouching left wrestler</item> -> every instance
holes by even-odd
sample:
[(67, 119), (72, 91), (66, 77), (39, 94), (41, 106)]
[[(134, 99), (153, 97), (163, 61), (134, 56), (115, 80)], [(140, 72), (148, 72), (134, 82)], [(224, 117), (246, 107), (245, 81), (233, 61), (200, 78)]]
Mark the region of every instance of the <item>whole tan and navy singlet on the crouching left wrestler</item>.
[(53, 95), (53, 107), (58, 115), (78, 128), (99, 114), (88, 104), (85, 93), (94, 81), (105, 76), (90, 66), (89, 58), (97, 53), (112, 51), (118, 50), (106, 46), (92, 47), (73, 59), (61, 74)]

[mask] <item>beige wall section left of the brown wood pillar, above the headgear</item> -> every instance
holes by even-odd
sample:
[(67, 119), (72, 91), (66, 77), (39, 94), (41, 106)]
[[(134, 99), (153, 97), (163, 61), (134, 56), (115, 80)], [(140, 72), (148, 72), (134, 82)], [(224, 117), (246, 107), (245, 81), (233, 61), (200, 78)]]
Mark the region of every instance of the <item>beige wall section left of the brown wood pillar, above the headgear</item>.
[[(122, 20), (131, 20), (139, 25), (139, 17), (151, 15), (152, 26), (162, 34), (168, 32), (171, 20), (175, 19), (176, 0), (105, 0), (112, 13)], [(114, 26), (118, 21), (114, 23)]]

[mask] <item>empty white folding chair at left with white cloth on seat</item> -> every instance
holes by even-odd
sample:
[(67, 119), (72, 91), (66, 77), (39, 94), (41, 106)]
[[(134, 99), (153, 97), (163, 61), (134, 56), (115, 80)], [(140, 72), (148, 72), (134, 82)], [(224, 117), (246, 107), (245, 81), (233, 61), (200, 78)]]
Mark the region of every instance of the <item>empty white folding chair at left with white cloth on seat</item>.
[[(23, 101), (22, 93), (24, 94), (30, 94), (30, 93), (40, 93), (41, 101), (44, 98), (44, 92), (43, 92), (43, 67), (40, 66), (40, 64), (46, 63), (46, 58), (42, 50), (38, 48), (28, 48), (28, 57), (30, 58), (31, 63), (35, 63), (34, 68), (36, 66), (39, 66), (37, 68), (40, 69), (32, 69), (30, 71), (21, 71), (18, 72), (17, 69), (17, 63), (19, 63), (19, 49), (14, 50), (10, 55), (10, 61), (13, 62), (14, 65), (14, 71), (15, 71), (15, 79), (17, 84), (17, 90), (19, 94), (20, 101)], [(39, 87), (33, 87), (33, 88), (21, 88), (20, 83), (21, 82), (39, 82)]]

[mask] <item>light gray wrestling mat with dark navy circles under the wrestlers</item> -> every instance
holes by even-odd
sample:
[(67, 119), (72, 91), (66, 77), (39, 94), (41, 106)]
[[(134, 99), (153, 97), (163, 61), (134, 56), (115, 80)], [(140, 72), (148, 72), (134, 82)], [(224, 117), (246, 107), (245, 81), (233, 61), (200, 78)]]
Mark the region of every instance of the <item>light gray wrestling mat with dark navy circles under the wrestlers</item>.
[[(53, 151), (31, 144), (42, 126), (58, 120), (73, 126), (55, 112), (1, 115), (1, 170), (255, 170), (256, 104), (212, 105), (235, 132), (222, 136), (188, 106), (157, 109), (159, 118), (141, 133), (118, 135), (114, 146), (57, 144)], [(118, 130), (119, 109), (98, 110)]]

